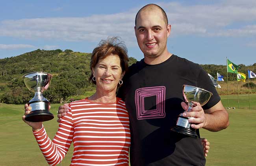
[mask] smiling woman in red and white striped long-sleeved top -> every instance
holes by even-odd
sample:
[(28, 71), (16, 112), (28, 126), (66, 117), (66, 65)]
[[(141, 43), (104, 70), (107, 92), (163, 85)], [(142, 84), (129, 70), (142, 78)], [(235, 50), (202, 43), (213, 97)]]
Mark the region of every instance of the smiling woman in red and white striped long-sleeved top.
[(69, 104), (69, 112), (59, 124), (51, 141), (42, 122), (27, 122), (25, 115), (31, 107), (25, 105), (24, 122), (33, 134), (49, 165), (65, 157), (71, 142), (74, 144), (74, 165), (129, 165), (130, 129), (124, 102), (116, 90), (128, 69), (126, 46), (118, 38), (101, 41), (91, 55), (91, 77), (96, 85), (92, 96)]

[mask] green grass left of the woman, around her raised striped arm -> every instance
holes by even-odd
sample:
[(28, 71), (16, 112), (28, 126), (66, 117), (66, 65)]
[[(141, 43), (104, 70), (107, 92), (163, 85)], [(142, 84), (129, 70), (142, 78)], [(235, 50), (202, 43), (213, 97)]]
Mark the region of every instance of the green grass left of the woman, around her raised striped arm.
[[(57, 111), (59, 105), (51, 105), (53, 120), (44, 122), (50, 138), (57, 129)], [(22, 121), (23, 105), (7, 105), (0, 103), (0, 165), (1, 166), (45, 166), (48, 165), (41, 154), (32, 129)], [(68, 166), (72, 157), (73, 147), (70, 148), (62, 166)], [(60, 165), (60, 164), (59, 164)]]

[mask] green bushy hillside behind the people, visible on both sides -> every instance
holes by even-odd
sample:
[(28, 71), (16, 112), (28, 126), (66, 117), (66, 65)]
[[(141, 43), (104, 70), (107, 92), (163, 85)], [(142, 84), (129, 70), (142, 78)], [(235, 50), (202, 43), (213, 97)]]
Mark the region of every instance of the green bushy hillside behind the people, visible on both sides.
[[(19, 56), (0, 59), (0, 102), (12, 104), (24, 104), (33, 98), (33, 93), (26, 89), (22, 76), (30, 72), (48, 72), (52, 74), (50, 88), (44, 92), (45, 98), (51, 103), (63, 103), (69, 100), (81, 99), (95, 91), (95, 87), (88, 81), (91, 74), (89, 68), (91, 53), (73, 52), (72, 50), (35, 50)], [(129, 58), (129, 65), (137, 60)], [(217, 78), (216, 73), (224, 76), (226, 81), (225, 65), (200, 65)], [(239, 65), (239, 71), (247, 74), (247, 70), (256, 72), (256, 63), (250, 66)], [(231, 81), (228, 90), (226, 82), (219, 82), (221, 90), (219, 94), (227, 94), (230, 91), (236, 93), (236, 74), (229, 73)], [(232, 82), (233, 81), (233, 82)], [(252, 79), (252, 81), (254, 81)], [(254, 81), (256, 83), (256, 80)], [(241, 93), (247, 93), (245, 83), (239, 83)], [(254, 85), (254, 84), (252, 84)], [(256, 86), (252, 92), (256, 92)], [(239, 88), (240, 89), (240, 88)]]

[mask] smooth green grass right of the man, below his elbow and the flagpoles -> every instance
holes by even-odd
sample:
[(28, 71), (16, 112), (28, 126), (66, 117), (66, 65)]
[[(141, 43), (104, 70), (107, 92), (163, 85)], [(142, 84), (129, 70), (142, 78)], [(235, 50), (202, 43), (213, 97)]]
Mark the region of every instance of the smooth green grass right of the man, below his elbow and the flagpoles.
[(207, 166), (252, 166), (256, 161), (256, 110), (228, 110), (230, 125), (213, 133), (200, 130), (210, 141)]

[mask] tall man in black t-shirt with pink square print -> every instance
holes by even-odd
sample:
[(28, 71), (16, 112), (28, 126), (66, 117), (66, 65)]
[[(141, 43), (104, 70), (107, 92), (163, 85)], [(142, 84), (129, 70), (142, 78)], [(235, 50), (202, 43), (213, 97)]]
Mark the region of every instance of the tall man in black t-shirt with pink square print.
[[(136, 15), (134, 30), (144, 59), (130, 66), (118, 93), (126, 102), (130, 118), (131, 166), (205, 165), (200, 139), (170, 129), (188, 107), (182, 102), (184, 84), (213, 92), (206, 105), (196, 103), (191, 112), (184, 114), (195, 117), (189, 119), (192, 127), (210, 131), (226, 128), (228, 113), (215, 87), (198, 64), (167, 50), (171, 25), (160, 6), (142, 7)], [(200, 136), (199, 130), (197, 134)]]

